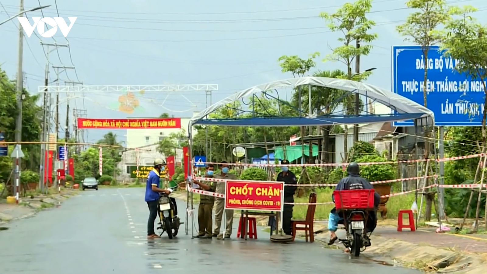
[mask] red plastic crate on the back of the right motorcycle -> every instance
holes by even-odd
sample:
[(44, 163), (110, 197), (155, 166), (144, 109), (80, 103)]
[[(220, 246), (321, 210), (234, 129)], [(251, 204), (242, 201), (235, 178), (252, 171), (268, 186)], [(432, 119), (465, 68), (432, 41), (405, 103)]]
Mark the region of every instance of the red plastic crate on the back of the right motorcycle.
[(336, 209), (374, 208), (374, 189), (336, 190), (333, 192)]

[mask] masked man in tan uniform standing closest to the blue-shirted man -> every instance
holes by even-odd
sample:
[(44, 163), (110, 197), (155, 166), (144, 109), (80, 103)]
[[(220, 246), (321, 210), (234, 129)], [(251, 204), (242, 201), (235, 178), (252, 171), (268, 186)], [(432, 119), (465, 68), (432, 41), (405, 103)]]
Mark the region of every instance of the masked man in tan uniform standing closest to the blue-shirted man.
[[(207, 178), (213, 178), (213, 164), (208, 164), (206, 167)], [(202, 190), (209, 192), (215, 192), (216, 182), (213, 181), (194, 181), (200, 186)], [(196, 238), (211, 239), (212, 231), (211, 227), (213, 225), (213, 220), (211, 215), (213, 214), (213, 204), (215, 202), (214, 196), (200, 195), (200, 205), (198, 207), (198, 226), (199, 233)]]

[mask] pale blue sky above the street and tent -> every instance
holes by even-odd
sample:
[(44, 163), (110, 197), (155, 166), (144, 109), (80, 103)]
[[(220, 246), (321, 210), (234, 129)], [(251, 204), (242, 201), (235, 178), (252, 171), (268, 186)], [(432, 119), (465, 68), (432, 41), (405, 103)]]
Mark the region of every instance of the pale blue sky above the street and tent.
[[(70, 51), (59, 48), (49, 55), (50, 65), (72, 66), (60, 75), (63, 80), (77, 78), (89, 85), (136, 84), (219, 84), (213, 102), (257, 84), (290, 78), (281, 73), (277, 59), (282, 55), (301, 58), (314, 52), (324, 57), (330, 47), (339, 45), (338, 33), (330, 32), (320, 12), (334, 12), (344, 0), (247, 0), (247, 1), (160, 1), (160, 0), (57, 0), (59, 16), (77, 17), (67, 39)], [(455, 5), (472, 5), (486, 10), (482, 0), (450, 0)], [(19, 0), (0, 0), (10, 16), (18, 12)], [(40, 0), (44, 17), (56, 17), (54, 0)], [(25, 0), (25, 7), (38, 6), (37, 0)], [(485, 22), (487, 12), (476, 17)], [(375, 0), (369, 15), (378, 39), (367, 57), (361, 58), (362, 70), (377, 68), (368, 83), (391, 87), (391, 46), (408, 44), (395, 30), (411, 12), (405, 0)], [(40, 12), (27, 17), (40, 16)], [(0, 6), (0, 21), (8, 18)], [(0, 64), (10, 77), (17, 72), (18, 30), (14, 23), (0, 26)], [(31, 21), (32, 22), (32, 21)], [(35, 31), (37, 32), (37, 30)], [(58, 31), (46, 43), (66, 43)], [(47, 50), (47, 48), (45, 48)], [(36, 93), (43, 85), (46, 57), (39, 39), (25, 36), (23, 68), (28, 89)], [(338, 62), (322, 62), (317, 69), (345, 69)], [(77, 77), (76, 77), (77, 74)], [(51, 69), (50, 81), (56, 75)], [(54, 83), (53, 83), (54, 84)], [(118, 96), (118, 95), (117, 95)], [(112, 110), (117, 96), (89, 94), (71, 99), (70, 106), (85, 108), (88, 117), (123, 118), (127, 114)], [(205, 108), (204, 92), (172, 94), (146, 93), (142, 111), (129, 116), (152, 117), (169, 112), (190, 117)], [(61, 99), (62, 100), (62, 99)], [(160, 104), (164, 102), (163, 106)], [(64, 121), (65, 104), (60, 106)], [(107, 131), (89, 131), (88, 141)], [(115, 133), (123, 138), (124, 130)], [(60, 134), (62, 137), (63, 134)]]

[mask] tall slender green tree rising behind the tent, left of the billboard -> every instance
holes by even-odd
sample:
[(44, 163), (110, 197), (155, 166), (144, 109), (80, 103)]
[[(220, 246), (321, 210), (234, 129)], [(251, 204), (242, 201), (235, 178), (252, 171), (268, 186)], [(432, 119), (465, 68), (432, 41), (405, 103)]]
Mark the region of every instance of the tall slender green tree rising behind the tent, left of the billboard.
[[(347, 66), (347, 79), (360, 81), (369, 77), (372, 72), (352, 74), (352, 67), (356, 57), (367, 56), (373, 46), (370, 44), (377, 38), (377, 34), (369, 33), (375, 21), (367, 19), (367, 13), (372, 8), (372, 0), (357, 0), (353, 3), (345, 3), (335, 13), (322, 12), (319, 16), (328, 22), (328, 28), (333, 32), (341, 32), (342, 37), (338, 41), (343, 45), (332, 49), (324, 61), (340, 61)], [(355, 45), (354, 45), (355, 41)], [(358, 70), (358, 66), (356, 67)], [(355, 107), (354, 107), (355, 103)], [(359, 97), (351, 94), (344, 98), (344, 112), (347, 115), (358, 113), (360, 108)], [(343, 148), (345, 160), (348, 158), (348, 126), (345, 126)]]

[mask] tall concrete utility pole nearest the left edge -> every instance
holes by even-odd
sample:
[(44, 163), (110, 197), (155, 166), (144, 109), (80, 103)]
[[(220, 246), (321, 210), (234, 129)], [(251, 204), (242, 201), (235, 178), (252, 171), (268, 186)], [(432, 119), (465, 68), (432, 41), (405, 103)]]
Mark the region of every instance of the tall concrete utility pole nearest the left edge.
[[(24, 11), (24, 0), (20, 0), (20, 12), (22, 13)], [(24, 14), (22, 13), (21, 17), (24, 17)], [(17, 64), (17, 111), (19, 114), (17, 115), (17, 121), (15, 124), (15, 141), (16, 142), (21, 142), (22, 141), (22, 97), (23, 95), (23, 70), (22, 70), (22, 62), (23, 62), (23, 41), (24, 41), (24, 33), (23, 33), (23, 28), (22, 25), (19, 22), (19, 59), (18, 59), (18, 64)], [(22, 145), (19, 143), (17, 144), (19, 148), (22, 147)], [(19, 168), (16, 169), (14, 173), (14, 180), (20, 180), (20, 158), (17, 157), (15, 158), (16, 161), (16, 166)], [(15, 184), (12, 184), (15, 185)], [(12, 193), (16, 193), (13, 191)]]

